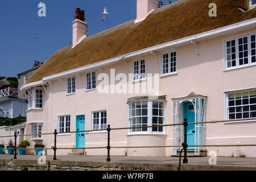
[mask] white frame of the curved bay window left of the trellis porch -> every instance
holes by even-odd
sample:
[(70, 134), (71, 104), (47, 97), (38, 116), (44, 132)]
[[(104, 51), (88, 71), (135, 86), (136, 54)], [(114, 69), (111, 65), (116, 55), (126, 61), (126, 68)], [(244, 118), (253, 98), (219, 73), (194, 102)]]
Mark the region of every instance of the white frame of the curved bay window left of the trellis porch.
[[(147, 126), (152, 126), (152, 103), (153, 102), (163, 102), (163, 124), (166, 125), (166, 101), (163, 100), (138, 100), (132, 101), (128, 104), (128, 127), (131, 126), (130, 123), (130, 113), (129, 113), (129, 105), (133, 102), (147, 102), (147, 115), (143, 117), (147, 117)], [(146, 107), (145, 107), (146, 108)], [(166, 135), (166, 127), (163, 126), (163, 131), (153, 131), (152, 127), (148, 127), (147, 131), (131, 131), (132, 129), (128, 129), (128, 135), (141, 135), (141, 134), (155, 134), (155, 135)]]

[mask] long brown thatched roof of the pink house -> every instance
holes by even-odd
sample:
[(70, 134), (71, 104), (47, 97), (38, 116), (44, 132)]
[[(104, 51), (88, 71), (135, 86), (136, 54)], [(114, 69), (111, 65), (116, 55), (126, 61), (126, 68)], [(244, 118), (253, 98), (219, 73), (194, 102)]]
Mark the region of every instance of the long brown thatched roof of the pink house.
[[(212, 2), (217, 5), (216, 17), (208, 15)], [(154, 10), (143, 22), (131, 20), (89, 36), (73, 49), (60, 49), (27, 83), (256, 17), (256, 8), (242, 12), (237, 7), (247, 9), (247, 0), (179, 0)]]

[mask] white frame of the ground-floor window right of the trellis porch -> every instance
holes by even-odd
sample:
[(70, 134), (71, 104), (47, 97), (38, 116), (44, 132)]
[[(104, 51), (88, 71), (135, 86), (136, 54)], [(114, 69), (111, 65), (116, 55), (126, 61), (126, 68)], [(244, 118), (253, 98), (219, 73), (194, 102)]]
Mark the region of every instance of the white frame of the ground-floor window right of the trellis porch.
[[(229, 119), (229, 94), (236, 94), (236, 93), (244, 93), (244, 92), (255, 92), (256, 89), (246, 89), (246, 90), (239, 90), (239, 91), (232, 91), (232, 92), (225, 92), (224, 93), (224, 114), (225, 114), (225, 120), (230, 120)], [(250, 104), (247, 104), (250, 106)], [(247, 106), (246, 105), (246, 106)], [(254, 104), (253, 104), (254, 105)], [(241, 106), (244, 106), (241, 104)], [(233, 107), (236, 107), (236, 105), (234, 105)], [(250, 110), (250, 109), (249, 109)], [(243, 112), (242, 112), (243, 113)], [(249, 111), (250, 114), (250, 111)], [(249, 115), (250, 117), (250, 115)], [(240, 118), (243, 119), (243, 118)], [(246, 118), (247, 119), (247, 118)], [(250, 122), (250, 121), (256, 121), (255, 118), (251, 118), (252, 120), (248, 120), (248, 121), (234, 121), (234, 122)], [(233, 119), (232, 119), (233, 120)], [(226, 122), (226, 123), (232, 123), (232, 122)]]

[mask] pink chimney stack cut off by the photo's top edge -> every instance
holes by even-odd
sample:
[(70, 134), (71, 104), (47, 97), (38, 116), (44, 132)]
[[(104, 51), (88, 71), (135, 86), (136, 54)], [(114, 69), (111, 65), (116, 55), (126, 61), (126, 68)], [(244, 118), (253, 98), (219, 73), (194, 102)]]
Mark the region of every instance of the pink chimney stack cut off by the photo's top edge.
[(137, 0), (137, 19), (134, 23), (146, 19), (158, 7), (158, 0)]

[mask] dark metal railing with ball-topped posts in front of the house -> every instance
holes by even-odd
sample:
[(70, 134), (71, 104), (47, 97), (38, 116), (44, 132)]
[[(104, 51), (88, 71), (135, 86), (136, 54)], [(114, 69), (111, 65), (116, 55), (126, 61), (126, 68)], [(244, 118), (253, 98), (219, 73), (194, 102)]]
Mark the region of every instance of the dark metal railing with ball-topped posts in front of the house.
[[(187, 126), (188, 125), (195, 125), (195, 124), (205, 124), (205, 123), (223, 123), (223, 122), (234, 122), (234, 121), (250, 121), (256, 118), (246, 118), (246, 119), (232, 119), (232, 120), (221, 120), (221, 121), (207, 121), (207, 122), (192, 122), (188, 123), (187, 119), (184, 119), (183, 123), (177, 123), (177, 124), (170, 124), (170, 125), (156, 125), (156, 126), (141, 126), (141, 127), (120, 127), (120, 128), (110, 128), (110, 125), (106, 129), (102, 130), (85, 130), (85, 131), (70, 131), (70, 132), (62, 132), (58, 133), (57, 130), (55, 129), (54, 133), (44, 133), (40, 135), (54, 135), (54, 146), (51, 148), (43, 148), (44, 150), (53, 150), (53, 160), (57, 160), (56, 158), (56, 151), (57, 150), (68, 150), (68, 149), (98, 149), (98, 148), (106, 148), (107, 149), (107, 158), (106, 161), (110, 162), (110, 149), (111, 148), (170, 148), (170, 147), (183, 147), (180, 151), (179, 154), (179, 169), (180, 169), (180, 159), (181, 159), (181, 152), (184, 150), (184, 159), (183, 163), (187, 164), (188, 159), (187, 159), (187, 148), (188, 147), (252, 147), (256, 146), (256, 144), (216, 144), (216, 145), (188, 145), (187, 144)], [(167, 127), (167, 126), (176, 126), (176, 125), (183, 125), (184, 126), (184, 142), (181, 143), (181, 146), (118, 146), (118, 147), (111, 147), (110, 146), (110, 131), (112, 130), (127, 130), (127, 129), (142, 129), (142, 128), (150, 128), (150, 127)], [(108, 144), (105, 147), (82, 147), (82, 148), (57, 148), (57, 134), (70, 134), (70, 133), (85, 133), (85, 132), (90, 132), (90, 131), (107, 131), (108, 132)], [(17, 137), (22, 137), (22, 136), (31, 136), (32, 134), (24, 134), (24, 135), (17, 135), (16, 133), (14, 135), (10, 136), (2, 136), (0, 138), (4, 137), (14, 137), (15, 142), (14, 142), (14, 147), (13, 148), (7, 148), (7, 150), (14, 150), (14, 159), (16, 159), (16, 138)], [(6, 149), (0, 149), (0, 150), (6, 150)], [(38, 150), (36, 148), (18, 148), (18, 150)]]

